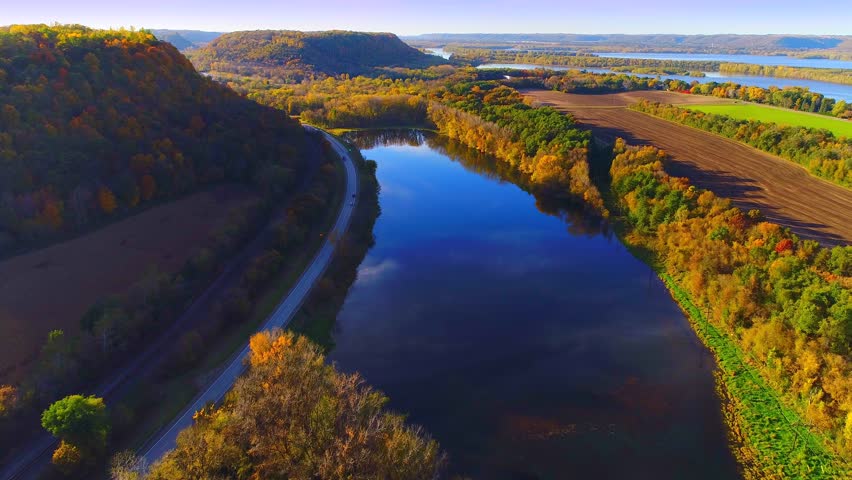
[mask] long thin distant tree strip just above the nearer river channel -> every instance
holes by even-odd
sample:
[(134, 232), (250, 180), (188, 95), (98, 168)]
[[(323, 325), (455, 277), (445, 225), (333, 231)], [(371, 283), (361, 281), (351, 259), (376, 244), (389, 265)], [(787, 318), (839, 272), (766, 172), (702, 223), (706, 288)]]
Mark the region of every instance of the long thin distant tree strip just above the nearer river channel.
[(531, 65), (579, 68), (649, 68), (676, 72), (677, 75), (716, 71), (720, 65), (720, 62), (717, 61), (611, 58), (575, 52), (518, 51), (461, 47), (446, 47), (445, 50), (453, 53), (453, 60), (465, 60), (475, 65), (484, 63), (526, 63)]

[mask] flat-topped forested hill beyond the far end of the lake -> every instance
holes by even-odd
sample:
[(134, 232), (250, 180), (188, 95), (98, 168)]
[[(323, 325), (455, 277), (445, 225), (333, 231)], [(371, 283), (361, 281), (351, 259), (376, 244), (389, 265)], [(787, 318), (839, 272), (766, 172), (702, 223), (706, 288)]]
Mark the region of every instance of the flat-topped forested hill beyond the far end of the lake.
[(391, 33), (260, 30), (227, 33), (191, 52), (200, 70), (277, 69), (295, 76), (371, 75), (446, 63)]

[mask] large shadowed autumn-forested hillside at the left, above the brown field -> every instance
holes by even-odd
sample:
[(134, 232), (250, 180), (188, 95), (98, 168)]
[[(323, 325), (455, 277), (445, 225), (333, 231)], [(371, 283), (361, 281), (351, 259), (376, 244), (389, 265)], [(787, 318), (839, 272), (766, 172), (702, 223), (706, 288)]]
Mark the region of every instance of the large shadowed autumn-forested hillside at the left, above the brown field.
[(145, 31), (0, 28), (0, 253), (205, 184), (297, 175), (298, 123)]

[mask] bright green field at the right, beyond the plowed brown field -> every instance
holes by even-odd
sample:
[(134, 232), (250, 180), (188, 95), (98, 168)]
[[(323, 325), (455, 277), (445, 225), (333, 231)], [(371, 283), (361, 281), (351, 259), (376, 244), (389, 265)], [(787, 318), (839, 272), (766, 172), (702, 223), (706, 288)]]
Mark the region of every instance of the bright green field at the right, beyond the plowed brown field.
[(838, 137), (852, 137), (852, 122), (808, 112), (796, 112), (752, 103), (730, 103), (724, 105), (690, 105), (690, 109), (705, 113), (727, 115), (740, 120), (774, 122), (781, 125), (822, 128)]

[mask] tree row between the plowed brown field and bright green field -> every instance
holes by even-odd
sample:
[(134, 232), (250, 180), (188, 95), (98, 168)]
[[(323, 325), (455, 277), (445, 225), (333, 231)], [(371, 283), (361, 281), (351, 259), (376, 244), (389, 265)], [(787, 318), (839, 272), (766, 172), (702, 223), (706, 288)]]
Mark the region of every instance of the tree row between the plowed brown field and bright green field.
[(796, 162), (818, 177), (852, 187), (852, 139), (838, 139), (828, 130), (738, 120), (647, 100), (630, 108), (747, 143)]

